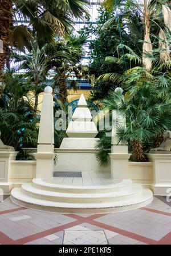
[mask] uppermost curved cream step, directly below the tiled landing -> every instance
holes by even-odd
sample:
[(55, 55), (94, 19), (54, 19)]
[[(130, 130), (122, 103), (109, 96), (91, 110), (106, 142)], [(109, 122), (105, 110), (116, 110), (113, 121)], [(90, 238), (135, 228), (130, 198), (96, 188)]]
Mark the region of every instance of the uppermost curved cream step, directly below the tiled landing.
[(123, 180), (115, 180), (112, 184), (108, 185), (100, 185), (100, 186), (68, 186), (68, 185), (60, 185), (60, 184), (54, 184), (50, 182), (42, 181), (42, 179), (32, 179), (32, 186), (48, 190), (48, 191), (57, 191), (62, 193), (75, 193), (75, 190), (78, 191), (78, 193), (86, 193), (86, 194), (92, 194), (92, 193), (110, 193), (115, 191), (121, 191), (130, 189), (132, 186), (132, 180), (131, 179), (123, 179)]

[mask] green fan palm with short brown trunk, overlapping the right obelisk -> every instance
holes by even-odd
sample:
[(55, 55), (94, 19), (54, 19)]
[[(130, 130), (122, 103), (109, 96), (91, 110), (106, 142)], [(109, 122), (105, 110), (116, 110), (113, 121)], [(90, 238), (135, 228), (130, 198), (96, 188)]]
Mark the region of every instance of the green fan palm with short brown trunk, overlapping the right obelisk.
[(132, 145), (132, 158), (135, 161), (145, 161), (144, 143), (149, 143), (158, 134), (170, 129), (170, 103), (158, 100), (152, 87), (146, 83), (141, 86), (133, 97), (125, 100), (121, 94), (114, 91), (104, 99), (106, 109), (115, 110), (126, 118), (125, 126), (118, 126), (116, 138), (118, 143)]

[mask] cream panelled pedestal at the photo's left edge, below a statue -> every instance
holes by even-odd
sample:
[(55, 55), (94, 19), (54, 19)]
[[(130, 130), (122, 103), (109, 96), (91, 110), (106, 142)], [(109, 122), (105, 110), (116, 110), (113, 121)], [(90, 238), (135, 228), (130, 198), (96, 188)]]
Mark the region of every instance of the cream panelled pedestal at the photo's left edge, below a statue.
[(0, 152), (0, 189), (3, 194), (10, 192), (11, 161), (15, 160), (17, 154), (15, 151)]

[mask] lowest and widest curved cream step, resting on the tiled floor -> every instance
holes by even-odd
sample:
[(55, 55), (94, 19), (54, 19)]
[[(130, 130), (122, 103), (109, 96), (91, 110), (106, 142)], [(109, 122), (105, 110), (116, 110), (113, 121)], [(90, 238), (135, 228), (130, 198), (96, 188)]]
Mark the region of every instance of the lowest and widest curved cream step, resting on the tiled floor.
[(148, 205), (153, 200), (153, 193), (149, 189), (143, 189), (142, 194), (129, 200), (105, 203), (65, 203), (47, 201), (26, 195), (21, 188), (11, 191), (11, 201), (17, 205), (35, 210), (55, 211), (58, 213), (113, 213), (127, 211)]

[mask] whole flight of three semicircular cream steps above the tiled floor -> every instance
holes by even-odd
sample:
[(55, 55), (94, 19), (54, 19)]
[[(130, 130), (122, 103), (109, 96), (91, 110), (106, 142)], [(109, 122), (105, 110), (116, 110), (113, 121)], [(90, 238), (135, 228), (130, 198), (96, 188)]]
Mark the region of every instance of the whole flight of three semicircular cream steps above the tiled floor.
[(101, 186), (64, 186), (32, 179), (11, 191), (20, 206), (57, 213), (113, 213), (137, 209), (152, 202), (153, 194), (131, 179)]

